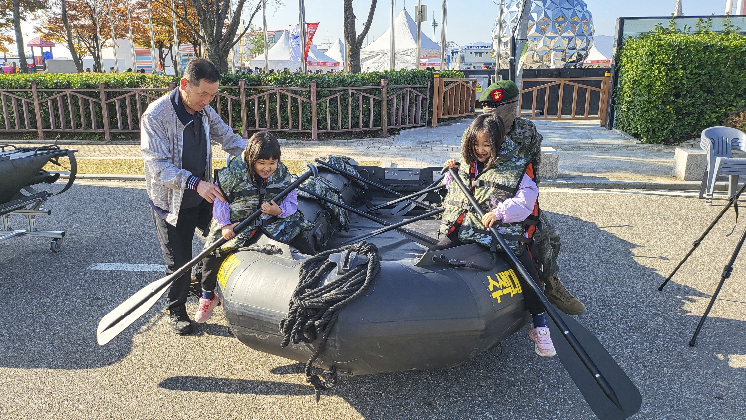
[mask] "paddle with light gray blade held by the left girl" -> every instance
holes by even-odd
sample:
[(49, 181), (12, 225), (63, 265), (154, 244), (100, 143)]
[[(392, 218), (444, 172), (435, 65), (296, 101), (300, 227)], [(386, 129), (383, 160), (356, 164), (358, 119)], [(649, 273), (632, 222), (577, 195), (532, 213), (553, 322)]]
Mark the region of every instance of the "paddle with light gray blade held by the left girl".
[[(288, 195), (289, 192), (291, 192), (293, 189), (298, 188), (301, 184), (303, 184), (308, 178), (319, 175), (319, 171), (318, 169), (316, 169), (316, 166), (308, 165), (308, 169), (308, 172), (305, 172), (303, 175), (298, 177), (298, 179), (293, 181), (292, 184), (290, 184), (288, 187), (278, 192), (278, 195), (275, 195), (275, 198), (272, 198), (272, 200), (274, 200), (275, 202), (280, 201), (281, 199), (285, 198), (285, 196)], [(254, 213), (251, 213), (248, 218), (244, 219), (242, 222), (236, 225), (236, 228), (233, 228), (233, 231), (240, 232), (243, 229), (248, 228), (248, 226), (251, 225), (251, 223), (254, 222), (254, 220), (262, 214), (262, 210), (257, 210)], [(132, 323), (137, 321), (137, 319), (140, 319), (140, 317), (148, 312), (148, 310), (153, 307), (153, 305), (160, 299), (161, 295), (163, 295), (163, 292), (166, 292), (166, 289), (169, 288), (171, 283), (173, 283), (176, 279), (180, 278), (181, 275), (184, 275), (184, 273), (192, 269), (192, 267), (199, 263), (204, 257), (207, 257), (207, 254), (210, 254), (217, 248), (220, 248), (223, 244), (225, 244), (225, 242), (228, 241), (221, 236), (220, 239), (213, 242), (212, 245), (210, 245), (208, 248), (205, 248), (196, 257), (192, 258), (191, 260), (189, 260), (188, 263), (184, 264), (181, 269), (176, 270), (176, 272), (171, 275), (167, 275), (164, 278), (155, 280), (153, 283), (148, 284), (147, 286), (138, 290), (126, 301), (122, 302), (122, 304), (119, 304), (118, 307), (111, 310), (110, 313), (107, 313), (104, 318), (102, 318), (101, 321), (98, 322), (98, 328), (96, 328), (96, 341), (98, 341), (98, 344), (104, 345), (107, 342), (110, 342), (112, 339), (114, 339), (114, 337), (118, 336), (119, 333), (122, 333), (125, 328), (132, 325)]]

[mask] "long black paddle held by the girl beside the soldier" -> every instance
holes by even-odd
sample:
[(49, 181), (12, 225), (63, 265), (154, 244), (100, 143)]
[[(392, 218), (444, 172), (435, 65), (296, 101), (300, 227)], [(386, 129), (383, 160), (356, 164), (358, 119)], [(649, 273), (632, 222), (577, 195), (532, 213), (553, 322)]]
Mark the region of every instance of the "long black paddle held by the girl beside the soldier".
[[(485, 212), (480, 203), (464, 185), (457, 172), (450, 168), (448, 172), (468, 198), (471, 207), (480, 217), (484, 216)], [(551, 322), (548, 323), (552, 334), (555, 337), (560, 335), (565, 338), (557, 340), (555, 344), (557, 354), (560, 355), (562, 365), (567, 369), (593, 413), (601, 420), (621, 420), (636, 413), (642, 404), (639, 390), (627, 374), (624, 374), (611, 354), (606, 351), (604, 345), (573, 319), (562, 318), (557, 308), (547, 300), (498, 230), (493, 227), (489, 228), (489, 231), (495, 239), (498, 239), (511, 265), (521, 276), (521, 281), (539, 295), (542, 306), (554, 322), (554, 325)], [(572, 325), (572, 328), (569, 325)], [(604, 369), (599, 369), (598, 366), (604, 366)]]

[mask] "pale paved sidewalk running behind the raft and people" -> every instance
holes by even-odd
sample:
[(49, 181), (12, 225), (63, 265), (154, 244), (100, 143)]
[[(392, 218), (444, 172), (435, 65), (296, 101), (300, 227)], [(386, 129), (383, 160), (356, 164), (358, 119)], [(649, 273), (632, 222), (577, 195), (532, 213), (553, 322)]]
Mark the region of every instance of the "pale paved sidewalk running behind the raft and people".
[[(293, 141), (283, 143), (283, 159), (311, 160), (325, 154), (344, 154), (356, 160), (380, 160), (382, 166), (440, 166), (457, 157), (461, 134), (471, 119), (457, 119), (437, 128), (414, 128), (393, 137), (363, 140)], [(599, 126), (598, 120), (536, 121), (544, 141), (542, 150), (560, 153), (557, 184), (676, 184), (691, 188), (671, 175), (674, 146), (645, 145), (618, 131)], [(140, 159), (139, 145), (66, 145), (78, 148), (77, 157)], [(225, 152), (213, 147), (216, 159)], [(546, 180), (549, 181), (549, 180)], [(549, 183), (548, 183), (549, 184)]]

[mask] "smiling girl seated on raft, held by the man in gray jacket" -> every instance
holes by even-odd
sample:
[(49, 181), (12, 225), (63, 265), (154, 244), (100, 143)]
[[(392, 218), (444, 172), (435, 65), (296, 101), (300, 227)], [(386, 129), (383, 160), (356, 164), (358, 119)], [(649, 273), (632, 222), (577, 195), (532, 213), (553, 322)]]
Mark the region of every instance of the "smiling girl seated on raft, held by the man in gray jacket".
[[(244, 246), (260, 228), (269, 236), (287, 242), (300, 231), (301, 223), (297, 213), (298, 192), (293, 190), (280, 203), (270, 199), (292, 183), (290, 173), (280, 162), (280, 143), (272, 134), (260, 131), (251, 136), (243, 153), (234, 157), (228, 167), (217, 170), (215, 179), (228, 202), (213, 203), (213, 221), (205, 248), (221, 236), (228, 242), (202, 260), (202, 297), (194, 316), (200, 324), (210, 319), (218, 304), (215, 287), (225, 257)], [(259, 209), (264, 214), (253, 226), (233, 231), (239, 222)]]

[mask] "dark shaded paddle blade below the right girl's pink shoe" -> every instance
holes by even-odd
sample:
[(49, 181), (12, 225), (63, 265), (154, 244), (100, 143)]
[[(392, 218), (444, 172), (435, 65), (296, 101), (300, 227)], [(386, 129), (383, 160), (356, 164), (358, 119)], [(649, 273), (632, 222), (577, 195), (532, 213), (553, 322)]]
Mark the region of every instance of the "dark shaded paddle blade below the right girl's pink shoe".
[(604, 391), (596, 383), (595, 378), (588, 372), (586, 366), (583, 365), (583, 362), (577, 357), (577, 354), (570, 347), (565, 337), (562, 336), (562, 331), (547, 317), (547, 326), (551, 331), (557, 355), (560, 356), (562, 365), (565, 366), (568, 374), (574, 380), (577, 389), (586, 398), (586, 402), (591, 407), (591, 410), (593, 410), (593, 413), (601, 420), (622, 420), (637, 413), (642, 404), (642, 396), (637, 386), (621, 370), (621, 366), (616, 363), (616, 360), (604, 348), (604, 345), (598, 341), (596, 336), (575, 321), (573, 317), (567, 316), (564, 313), (560, 313), (560, 316), (562, 316), (562, 321), (572, 330), (577, 341), (586, 349), (589, 357), (598, 366), (598, 370), (604, 375), (609, 385), (614, 389), (621, 404), (621, 408), (617, 407), (604, 394)]

